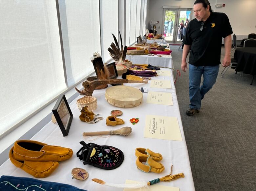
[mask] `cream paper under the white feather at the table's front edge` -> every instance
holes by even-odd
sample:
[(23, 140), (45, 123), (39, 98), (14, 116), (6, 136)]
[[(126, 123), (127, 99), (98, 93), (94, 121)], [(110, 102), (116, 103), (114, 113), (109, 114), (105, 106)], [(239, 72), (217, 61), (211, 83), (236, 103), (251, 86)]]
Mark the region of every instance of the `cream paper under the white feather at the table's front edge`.
[[(135, 183), (142, 183), (142, 182), (126, 180), (125, 183), (126, 184), (135, 184)], [(155, 190), (161, 190), (161, 191), (180, 191), (180, 188), (171, 187), (171, 186), (163, 186), (163, 185), (159, 185), (159, 184), (154, 184), (154, 185), (148, 186), (147, 188), (135, 188), (135, 189), (124, 188), (123, 189), (123, 191), (155, 191)]]

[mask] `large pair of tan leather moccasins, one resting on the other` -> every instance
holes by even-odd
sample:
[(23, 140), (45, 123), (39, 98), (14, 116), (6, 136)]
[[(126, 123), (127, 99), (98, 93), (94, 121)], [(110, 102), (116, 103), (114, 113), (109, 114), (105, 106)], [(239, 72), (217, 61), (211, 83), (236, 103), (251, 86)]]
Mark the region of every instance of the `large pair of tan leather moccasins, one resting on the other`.
[(67, 160), (72, 155), (70, 148), (31, 140), (16, 141), (9, 152), (11, 162), (35, 178), (49, 176), (58, 167), (58, 161)]

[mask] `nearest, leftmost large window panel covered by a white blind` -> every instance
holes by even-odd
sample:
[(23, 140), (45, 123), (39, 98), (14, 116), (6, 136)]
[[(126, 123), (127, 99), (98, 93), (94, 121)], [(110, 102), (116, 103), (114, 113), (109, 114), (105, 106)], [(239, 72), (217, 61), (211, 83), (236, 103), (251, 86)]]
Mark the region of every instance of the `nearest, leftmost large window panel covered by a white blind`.
[(0, 134), (67, 87), (55, 1), (0, 1)]

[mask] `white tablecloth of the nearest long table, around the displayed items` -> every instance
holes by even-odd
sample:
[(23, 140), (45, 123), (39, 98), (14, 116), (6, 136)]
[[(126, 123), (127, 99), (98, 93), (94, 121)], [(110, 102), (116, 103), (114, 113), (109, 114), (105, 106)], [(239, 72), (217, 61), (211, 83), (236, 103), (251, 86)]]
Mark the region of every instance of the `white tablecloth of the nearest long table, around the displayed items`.
[[(151, 58), (150, 58), (151, 59)], [(154, 58), (153, 58), (154, 59)], [(158, 63), (161, 61), (160, 58)], [(156, 63), (152, 63), (156, 64)], [(161, 64), (161, 63), (159, 63)], [(169, 58), (169, 67), (172, 66), (171, 58)], [(162, 70), (170, 70), (167, 68), (162, 68)], [(171, 72), (172, 73), (172, 72)], [(173, 75), (173, 74), (172, 74)], [(105, 89), (95, 90), (93, 96), (97, 98), (97, 109), (94, 110), (96, 114), (101, 113), (100, 116), (104, 117), (104, 120), (99, 121), (97, 124), (88, 124), (81, 122), (79, 120), (80, 110), (76, 106), (76, 100), (82, 96), (78, 96), (69, 106), (74, 115), (69, 134), (66, 137), (62, 136), (62, 133), (57, 124), (49, 122), (44, 128), (42, 128), (32, 140), (40, 141), (47, 143), (49, 145), (59, 145), (62, 147), (69, 147), (74, 151), (74, 155), (71, 159), (59, 163), (59, 167), (51, 174), (49, 177), (41, 179), (43, 181), (54, 181), (74, 185), (78, 188), (85, 190), (122, 190), (120, 188), (113, 188), (103, 186), (96, 182), (91, 181), (93, 178), (98, 178), (106, 182), (111, 183), (125, 183), (125, 180), (134, 180), (134, 181), (150, 181), (156, 178), (163, 177), (170, 173), (171, 165), (173, 165), (173, 173), (178, 174), (183, 172), (185, 177), (180, 178), (175, 181), (170, 182), (160, 182), (158, 184), (165, 186), (179, 187), (180, 191), (194, 191), (194, 182), (192, 178), (189, 157), (187, 152), (187, 146), (185, 142), (184, 132), (182, 128), (181, 115), (179, 110), (179, 105), (177, 101), (176, 90), (174, 86), (173, 76), (157, 76), (152, 79), (157, 80), (170, 80), (172, 88), (171, 89), (160, 89), (160, 88), (150, 88), (150, 81), (148, 84), (125, 84), (127, 86), (133, 87), (146, 87), (151, 91), (160, 91), (160, 92), (171, 92), (173, 97), (173, 105), (156, 105), (156, 104), (147, 104), (147, 93), (143, 93), (143, 100), (141, 105), (133, 108), (117, 108), (113, 105), (110, 105), (105, 100)], [(110, 85), (109, 85), (110, 86)], [(123, 111), (123, 115), (119, 118), (125, 121), (123, 125), (117, 125), (115, 127), (106, 125), (106, 118), (110, 115), (110, 111), (114, 109), (120, 109)], [(150, 139), (144, 138), (144, 126), (145, 126), (145, 117), (146, 115), (160, 115), (160, 116), (172, 116), (177, 117), (182, 141), (170, 141), (170, 140), (161, 140), (161, 139)], [(139, 123), (132, 125), (129, 122), (131, 118), (139, 118)], [(93, 141), (82, 136), (82, 132), (90, 131), (106, 131), (112, 129), (118, 129), (123, 126), (132, 127), (132, 133), (127, 136), (118, 136), (112, 135), (107, 138), (99, 137)], [(103, 170), (96, 168), (91, 165), (83, 165), (82, 161), (76, 157), (76, 152), (82, 146), (79, 144), (80, 141), (85, 141), (86, 143), (96, 143), (99, 145), (110, 145), (119, 148), (124, 153), (124, 161), (120, 167), (114, 170)], [(135, 148), (143, 147), (149, 148), (154, 152), (161, 153), (163, 160), (160, 161), (165, 170), (160, 173), (144, 173), (137, 169), (136, 167), (136, 157), (135, 157)], [(78, 181), (72, 179), (71, 170), (74, 167), (84, 168), (89, 173), (89, 178), (86, 181)], [(7, 160), (3, 165), (0, 166), (0, 175), (10, 175), (18, 177), (30, 177), (31, 175), (27, 174), (25, 171), (20, 168), (16, 168), (10, 160)]]

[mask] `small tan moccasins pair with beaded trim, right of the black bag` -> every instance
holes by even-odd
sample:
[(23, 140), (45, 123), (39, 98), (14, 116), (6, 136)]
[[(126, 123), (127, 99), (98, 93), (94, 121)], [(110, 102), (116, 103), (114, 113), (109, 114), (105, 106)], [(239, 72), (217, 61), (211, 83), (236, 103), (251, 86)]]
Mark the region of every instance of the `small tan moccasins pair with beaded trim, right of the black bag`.
[(157, 162), (163, 159), (160, 153), (155, 153), (148, 148), (136, 148), (135, 156), (137, 168), (143, 172), (161, 173), (164, 170), (162, 163)]

